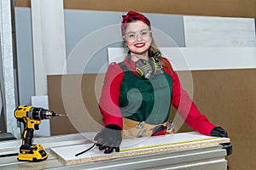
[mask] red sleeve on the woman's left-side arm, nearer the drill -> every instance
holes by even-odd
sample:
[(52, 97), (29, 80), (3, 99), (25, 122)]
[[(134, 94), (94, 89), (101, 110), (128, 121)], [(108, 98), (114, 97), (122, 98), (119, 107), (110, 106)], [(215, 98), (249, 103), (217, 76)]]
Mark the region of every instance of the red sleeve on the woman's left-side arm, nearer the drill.
[(118, 64), (111, 63), (108, 66), (99, 100), (104, 126), (115, 124), (123, 129), (123, 118), (119, 109), (119, 89), (123, 77), (124, 71)]

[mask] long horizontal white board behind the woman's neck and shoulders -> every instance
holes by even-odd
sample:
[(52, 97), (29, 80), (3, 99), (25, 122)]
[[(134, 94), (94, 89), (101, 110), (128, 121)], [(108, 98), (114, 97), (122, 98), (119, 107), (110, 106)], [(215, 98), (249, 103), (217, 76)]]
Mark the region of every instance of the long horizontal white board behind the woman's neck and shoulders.
[[(254, 69), (256, 48), (160, 48), (176, 71)], [(108, 62), (125, 59), (125, 48), (108, 48)]]

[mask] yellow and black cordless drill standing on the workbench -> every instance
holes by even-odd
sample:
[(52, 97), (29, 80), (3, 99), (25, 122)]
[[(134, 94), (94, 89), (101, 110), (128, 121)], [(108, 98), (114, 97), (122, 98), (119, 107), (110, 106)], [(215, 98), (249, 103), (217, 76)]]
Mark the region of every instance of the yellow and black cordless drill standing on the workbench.
[(39, 124), (43, 119), (51, 119), (54, 116), (64, 116), (53, 111), (45, 110), (32, 105), (19, 105), (15, 109), (15, 117), (18, 121), (24, 123), (24, 132), (22, 134), (22, 144), (19, 161), (44, 161), (48, 154), (41, 144), (32, 144), (33, 132), (39, 129)]

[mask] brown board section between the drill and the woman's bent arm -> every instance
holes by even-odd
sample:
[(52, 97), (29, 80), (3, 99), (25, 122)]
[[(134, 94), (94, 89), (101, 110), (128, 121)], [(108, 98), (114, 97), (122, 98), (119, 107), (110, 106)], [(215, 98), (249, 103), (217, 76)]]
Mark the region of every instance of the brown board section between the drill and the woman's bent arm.
[(51, 134), (96, 132), (102, 125), (97, 96), (101, 74), (48, 76), (49, 109), (67, 114), (50, 120)]

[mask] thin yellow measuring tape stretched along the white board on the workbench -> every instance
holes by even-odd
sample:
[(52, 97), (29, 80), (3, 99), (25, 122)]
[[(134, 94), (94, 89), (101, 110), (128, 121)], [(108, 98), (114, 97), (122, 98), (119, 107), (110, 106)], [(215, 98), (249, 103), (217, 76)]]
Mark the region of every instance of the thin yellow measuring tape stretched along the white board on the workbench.
[(220, 137), (213, 137), (213, 138), (206, 138), (206, 139), (185, 140), (185, 141), (166, 143), (166, 144), (152, 144), (152, 145), (148, 145), (148, 146), (140, 146), (140, 147), (135, 147), (135, 148), (121, 149), (120, 152), (131, 151), (131, 150), (143, 150), (143, 149), (148, 149), (148, 148), (163, 147), (163, 146), (174, 145), (174, 144), (186, 144), (186, 143), (191, 143), (191, 142), (201, 142), (201, 141), (205, 141), (205, 140), (219, 139), (219, 138)]

